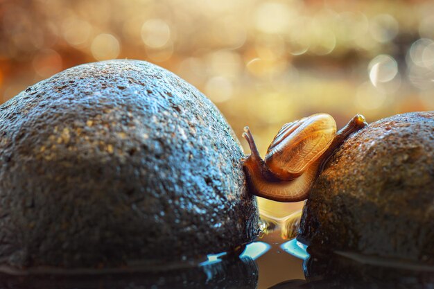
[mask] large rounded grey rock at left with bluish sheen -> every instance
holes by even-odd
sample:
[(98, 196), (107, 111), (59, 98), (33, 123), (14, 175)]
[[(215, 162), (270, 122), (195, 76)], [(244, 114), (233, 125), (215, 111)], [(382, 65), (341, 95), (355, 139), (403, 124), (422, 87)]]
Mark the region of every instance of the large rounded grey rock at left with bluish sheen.
[(67, 69), (0, 107), (0, 257), (66, 268), (189, 259), (257, 236), (241, 147), (153, 64)]

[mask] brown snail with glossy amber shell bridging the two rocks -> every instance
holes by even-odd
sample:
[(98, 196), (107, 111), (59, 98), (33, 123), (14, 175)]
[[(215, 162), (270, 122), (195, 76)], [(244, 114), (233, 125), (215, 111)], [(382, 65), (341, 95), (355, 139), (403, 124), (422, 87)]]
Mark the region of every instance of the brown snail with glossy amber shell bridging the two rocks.
[(336, 133), (329, 114), (286, 123), (268, 147), (265, 161), (259, 155), (252, 133), (245, 127), (251, 155), (243, 159), (250, 190), (254, 195), (279, 202), (304, 200), (318, 177), (322, 164), (353, 132), (365, 128), (361, 114)]

